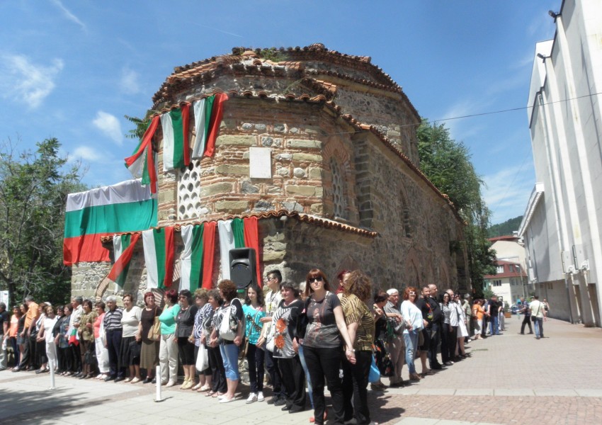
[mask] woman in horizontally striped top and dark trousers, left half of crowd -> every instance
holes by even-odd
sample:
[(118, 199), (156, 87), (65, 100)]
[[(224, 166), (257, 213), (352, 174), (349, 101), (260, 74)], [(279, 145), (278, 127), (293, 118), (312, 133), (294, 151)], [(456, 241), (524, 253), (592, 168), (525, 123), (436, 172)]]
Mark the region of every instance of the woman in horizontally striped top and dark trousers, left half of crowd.
[(105, 313), (103, 326), (105, 328), (105, 346), (108, 351), (109, 375), (105, 381), (119, 382), (125, 379), (125, 364), (120, 361), (120, 346), (123, 338), (121, 319), (123, 310), (117, 307), (117, 297), (109, 295), (106, 300), (108, 312)]

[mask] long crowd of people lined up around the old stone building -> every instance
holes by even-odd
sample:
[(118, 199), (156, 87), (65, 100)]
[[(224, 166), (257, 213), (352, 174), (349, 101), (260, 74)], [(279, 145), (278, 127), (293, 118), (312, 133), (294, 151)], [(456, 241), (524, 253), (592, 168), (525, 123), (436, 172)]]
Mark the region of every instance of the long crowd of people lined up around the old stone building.
[[(298, 285), (273, 270), (263, 290), (251, 285), (243, 299), (232, 280), (222, 280), (212, 290), (166, 290), (163, 302), (145, 293), (143, 307), (132, 294), (123, 295), (123, 307), (113, 295), (94, 304), (74, 297), (57, 307), (38, 305), (28, 296), (10, 319), (0, 303), (0, 317), (4, 340), (15, 355), (13, 372), (45, 373), (54, 367), (55, 373), (79, 379), (159, 380), (173, 387), (181, 367), (182, 390), (229, 403), (237, 400), (246, 360), (246, 403), (266, 400), (294, 413), (309, 402), (310, 421), (316, 424), (328, 417), (325, 386), (331, 419), (370, 424), (369, 384), (383, 391), (387, 385), (381, 377), (386, 377), (390, 387), (405, 385), (404, 364), (410, 381), (424, 379), (470, 356), (465, 342), (485, 337), (487, 324), (490, 335), (504, 327), (496, 297), (471, 304), (470, 295), (460, 297), (453, 290), (440, 295), (436, 285), (373, 295), (373, 284), (361, 271), (341, 271), (337, 280), (332, 285), (314, 268)], [(521, 302), (521, 333), (527, 324), (531, 330), (534, 317), (539, 339), (549, 305), (538, 297)], [(269, 398), (263, 395), (264, 375), (272, 387)]]

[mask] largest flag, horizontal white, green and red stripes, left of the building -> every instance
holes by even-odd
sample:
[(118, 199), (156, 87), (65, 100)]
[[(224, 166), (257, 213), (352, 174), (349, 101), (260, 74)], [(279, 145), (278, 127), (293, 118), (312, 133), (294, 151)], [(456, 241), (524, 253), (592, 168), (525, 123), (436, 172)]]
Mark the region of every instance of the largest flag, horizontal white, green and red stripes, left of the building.
[(110, 261), (101, 236), (157, 225), (157, 200), (140, 180), (70, 193), (65, 212), (63, 263)]

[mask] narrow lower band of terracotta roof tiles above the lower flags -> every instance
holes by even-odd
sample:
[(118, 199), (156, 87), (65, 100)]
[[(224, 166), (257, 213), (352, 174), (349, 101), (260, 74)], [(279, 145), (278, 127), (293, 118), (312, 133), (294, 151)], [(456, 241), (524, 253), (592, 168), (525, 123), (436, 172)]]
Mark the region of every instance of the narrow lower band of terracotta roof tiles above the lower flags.
[[(258, 217), (261, 220), (264, 218), (279, 218), (279, 217), (284, 217), (284, 216), (294, 218), (295, 220), (299, 220), (300, 222), (309, 223), (310, 225), (324, 227), (326, 229), (335, 229), (335, 230), (339, 230), (341, 232), (359, 234), (360, 236), (374, 238), (374, 237), (377, 237), (377, 235), (378, 235), (377, 232), (370, 232), (370, 230), (360, 229), (359, 227), (346, 225), (341, 222), (337, 222), (334, 220), (328, 220), (326, 218), (317, 217), (317, 216), (311, 215), (311, 214), (305, 214), (302, 212), (288, 211), (288, 210), (277, 210), (277, 211), (273, 210), (273, 211), (266, 211), (266, 212), (251, 212), (249, 214), (228, 215), (227, 217), (224, 217), (223, 219), (220, 219), (220, 220), (201, 220), (201, 221), (191, 221), (191, 222), (180, 222), (180, 223), (177, 223), (174, 227), (176, 229), (176, 232), (180, 232), (180, 229), (182, 226), (200, 225), (203, 222), (217, 222), (217, 221), (221, 221), (221, 220), (232, 220), (234, 218), (246, 218), (246, 217)], [(125, 232), (123, 234), (135, 234), (135, 233), (141, 233), (141, 232)], [(103, 242), (103, 243), (108, 243), (108, 242), (112, 242), (112, 241), (113, 241), (112, 235), (101, 237), (101, 242)]]

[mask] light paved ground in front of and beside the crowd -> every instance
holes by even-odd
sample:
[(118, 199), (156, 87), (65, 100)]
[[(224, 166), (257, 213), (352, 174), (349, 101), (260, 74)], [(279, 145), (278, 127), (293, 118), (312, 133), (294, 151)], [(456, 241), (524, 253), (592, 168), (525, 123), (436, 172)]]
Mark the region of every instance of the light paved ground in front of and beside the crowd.
[[(420, 382), (369, 391), (380, 424), (602, 424), (602, 330), (550, 319), (545, 339), (518, 335), (506, 319), (501, 336), (472, 341), (471, 358)], [(420, 366), (418, 365), (420, 372)], [(404, 368), (407, 379), (407, 369)], [(383, 381), (386, 381), (383, 379)], [(196, 392), (57, 376), (0, 372), (0, 415), (11, 424), (309, 424), (312, 412), (282, 412), (265, 402), (220, 404)], [(266, 390), (266, 395), (269, 390)]]

